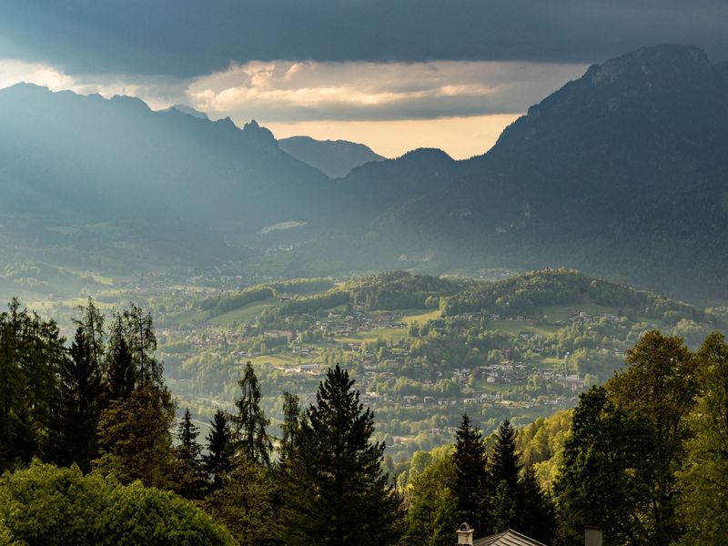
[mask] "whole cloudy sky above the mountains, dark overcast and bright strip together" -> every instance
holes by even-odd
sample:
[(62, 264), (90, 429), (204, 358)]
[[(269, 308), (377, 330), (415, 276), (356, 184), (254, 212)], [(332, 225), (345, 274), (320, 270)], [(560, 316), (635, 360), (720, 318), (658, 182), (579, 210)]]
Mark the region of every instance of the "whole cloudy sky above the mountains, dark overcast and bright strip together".
[(0, 87), (181, 103), (276, 136), (470, 157), (594, 62), (728, 60), (725, 0), (0, 0)]

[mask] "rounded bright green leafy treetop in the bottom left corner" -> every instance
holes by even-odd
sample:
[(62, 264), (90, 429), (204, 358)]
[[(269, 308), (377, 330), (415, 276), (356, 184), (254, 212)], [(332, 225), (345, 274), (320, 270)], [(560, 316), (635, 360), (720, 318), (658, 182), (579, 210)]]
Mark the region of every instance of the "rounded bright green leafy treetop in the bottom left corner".
[(236, 543), (224, 527), (171, 493), (38, 461), (0, 478), (4, 538), (46, 546)]

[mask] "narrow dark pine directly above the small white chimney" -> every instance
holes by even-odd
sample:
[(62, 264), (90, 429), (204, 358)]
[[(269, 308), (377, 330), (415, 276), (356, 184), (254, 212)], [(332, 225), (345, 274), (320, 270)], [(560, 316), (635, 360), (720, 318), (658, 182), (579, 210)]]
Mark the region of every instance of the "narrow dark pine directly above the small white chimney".
[(467, 521), (479, 536), (490, 532), (488, 521), (487, 457), (482, 435), (472, 426), (467, 415), (462, 416), (455, 432), (455, 482), (452, 489), (461, 521)]

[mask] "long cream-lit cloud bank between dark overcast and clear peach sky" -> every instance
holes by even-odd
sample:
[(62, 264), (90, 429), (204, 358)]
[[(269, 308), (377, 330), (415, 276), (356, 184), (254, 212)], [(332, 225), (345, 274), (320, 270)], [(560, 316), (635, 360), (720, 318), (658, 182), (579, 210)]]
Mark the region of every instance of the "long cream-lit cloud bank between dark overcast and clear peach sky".
[(460, 62), (253, 62), (194, 79), (191, 106), (212, 117), (428, 119), (522, 112), (583, 65)]

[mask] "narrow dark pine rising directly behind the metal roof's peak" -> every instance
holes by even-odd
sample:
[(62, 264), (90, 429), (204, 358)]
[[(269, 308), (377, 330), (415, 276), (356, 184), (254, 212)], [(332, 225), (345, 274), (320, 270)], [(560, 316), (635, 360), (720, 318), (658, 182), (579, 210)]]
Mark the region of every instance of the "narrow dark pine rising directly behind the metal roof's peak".
[(490, 510), (493, 532), (505, 531), (518, 523), (519, 472), (521, 463), (516, 452), (516, 430), (504, 420), (490, 452), (489, 480), (495, 501)]

